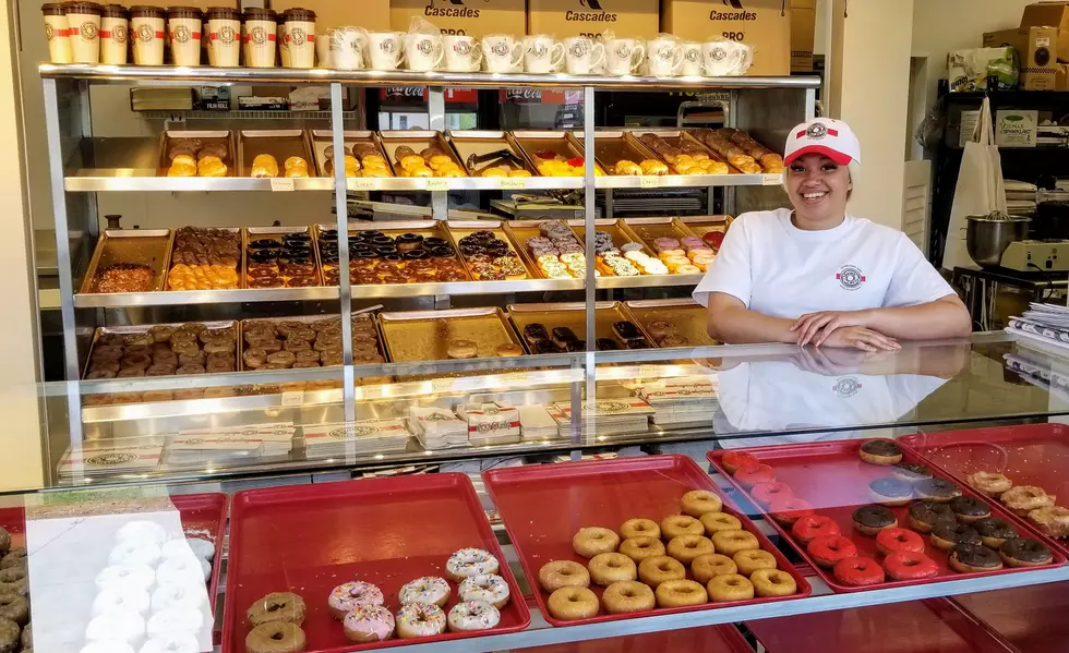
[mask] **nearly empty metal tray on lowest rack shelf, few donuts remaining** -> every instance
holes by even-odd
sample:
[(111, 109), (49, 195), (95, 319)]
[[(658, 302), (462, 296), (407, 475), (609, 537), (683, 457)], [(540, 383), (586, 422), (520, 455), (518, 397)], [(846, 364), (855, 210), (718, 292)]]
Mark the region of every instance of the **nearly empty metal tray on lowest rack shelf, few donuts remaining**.
[(496, 356), (502, 344), (523, 347), (499, 307), (382, 313), (379, 324), (394, 363), (448, 360), (451, 340), (475, 342), (480, 359)]

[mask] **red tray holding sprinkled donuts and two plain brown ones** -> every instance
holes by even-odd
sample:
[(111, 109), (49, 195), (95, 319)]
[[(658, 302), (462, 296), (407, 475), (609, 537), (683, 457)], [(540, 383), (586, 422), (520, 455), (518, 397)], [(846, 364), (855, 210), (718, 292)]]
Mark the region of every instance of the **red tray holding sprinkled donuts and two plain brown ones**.
[[(374, 583), (396, 613), (401, 585), (445, 576), (453, 552), (478, 547), (497, 556), (512, 600), (492, 630), (355, 644), (326, 601), (331, 590), (359, 578)], [(446, 610), (457, 603), (456, 585)], [(304, 598), (305, 650), (340, 653), (436, 642), (525, 629), (531, 621), (516, 579), (466, 474), (364, 479), (298, 487), (250, 489), (233, 496), (230, 567), (223, 651), (244, 653), (245, 610), (271, 592)]]

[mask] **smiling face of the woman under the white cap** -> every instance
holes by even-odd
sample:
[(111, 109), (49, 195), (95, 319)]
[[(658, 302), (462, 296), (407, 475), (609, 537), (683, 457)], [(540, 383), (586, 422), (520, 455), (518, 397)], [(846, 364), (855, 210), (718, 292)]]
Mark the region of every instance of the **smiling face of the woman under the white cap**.
[(822, 154), (798, 157), (786, 170), (786, 190), (801, 218), (821, 222), (846, 214), (850, 171)]

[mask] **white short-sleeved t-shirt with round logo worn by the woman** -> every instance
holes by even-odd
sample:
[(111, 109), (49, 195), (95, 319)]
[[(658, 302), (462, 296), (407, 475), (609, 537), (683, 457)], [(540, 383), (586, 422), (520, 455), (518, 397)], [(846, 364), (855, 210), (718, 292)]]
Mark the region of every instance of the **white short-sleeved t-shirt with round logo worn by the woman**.
[(710, 292), (794, 319), (816, 311), (914, 306), (953, 294), (904, 233), (846, 216), (834, 229), (803, 231), (791, 209), (743, 214), (731, 225), (694, 300)]

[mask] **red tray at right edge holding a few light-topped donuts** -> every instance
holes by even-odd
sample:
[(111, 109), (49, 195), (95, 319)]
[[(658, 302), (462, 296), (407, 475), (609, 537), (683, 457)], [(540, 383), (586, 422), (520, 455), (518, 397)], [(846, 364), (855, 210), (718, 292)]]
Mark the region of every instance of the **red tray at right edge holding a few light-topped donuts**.
[[(932, 464), (962, 485), (970, 474), (985, 471), (1009, 476), (1018, 485), (1036, 485), (1069, 501), (1069, 426), (1026, 424), (969, 431), (945, 431), (902, 437)], [(1046, 542), (1069, 556), (1069, 542)]]

